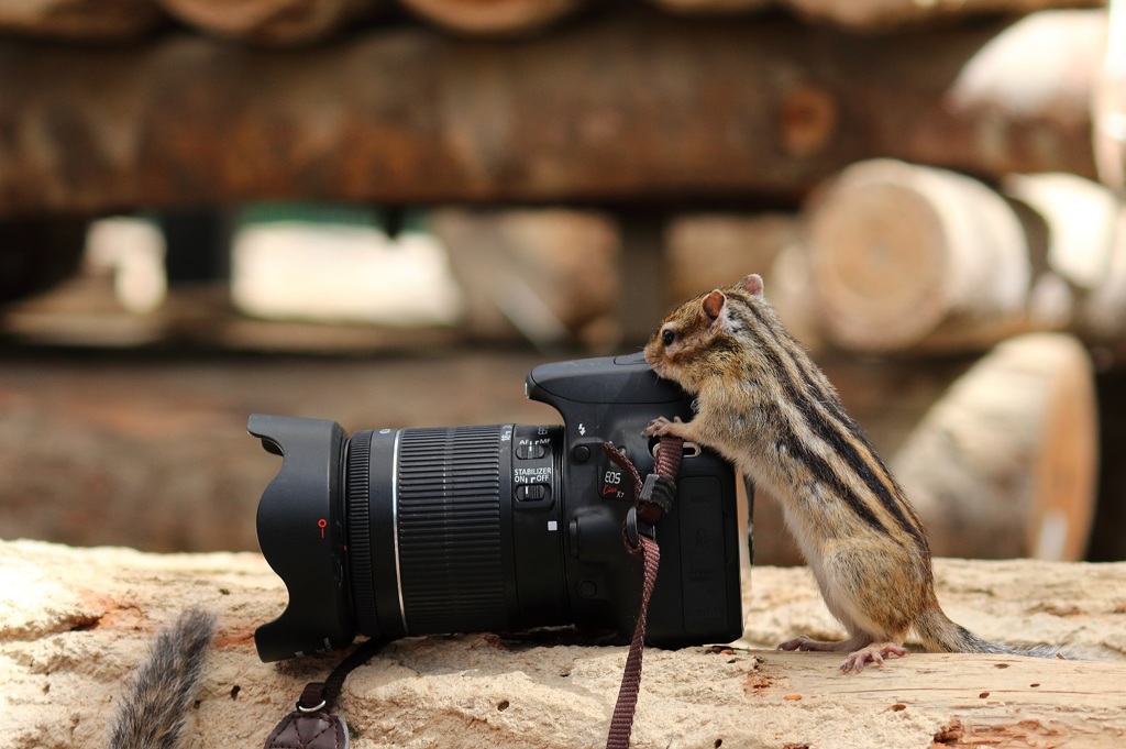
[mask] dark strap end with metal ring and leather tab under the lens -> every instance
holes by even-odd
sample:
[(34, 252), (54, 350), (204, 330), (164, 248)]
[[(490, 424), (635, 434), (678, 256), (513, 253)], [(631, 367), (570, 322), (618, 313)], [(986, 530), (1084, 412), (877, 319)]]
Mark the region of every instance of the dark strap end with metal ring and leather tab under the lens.
[(347, 749), (348, 726), (332, 707), (340, 696), (348, 675), (383, 650), (386, 640), (372, 639), (351, 651), (332, 669), (324, 681), (310, 681), (297, 698), (292, 713), (282, 719), (265, 749)]

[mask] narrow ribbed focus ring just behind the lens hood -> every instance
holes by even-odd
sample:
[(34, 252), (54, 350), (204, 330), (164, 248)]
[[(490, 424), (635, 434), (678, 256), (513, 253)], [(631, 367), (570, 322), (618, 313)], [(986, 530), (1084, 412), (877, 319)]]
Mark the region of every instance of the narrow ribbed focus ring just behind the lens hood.
[(372, 572), (372, 503), (369, 500), (372, 433), (360, 431), (348, 443), (348, 555), (352, 601), (361, 632), (377, 632), (375, 582)]

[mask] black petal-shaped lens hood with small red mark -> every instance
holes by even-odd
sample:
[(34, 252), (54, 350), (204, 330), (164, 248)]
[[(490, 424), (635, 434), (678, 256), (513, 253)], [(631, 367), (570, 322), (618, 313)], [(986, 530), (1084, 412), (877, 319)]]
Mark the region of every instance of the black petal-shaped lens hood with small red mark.
[(345, 431), (334, 421), (260, 413), (247, 430), (282, 456), (258, 506), (258, 545), (289, 591), (285, 612), (254, 632), (258, 656), (276, 661), (343, 648), (356, 636), (340, 499)]

